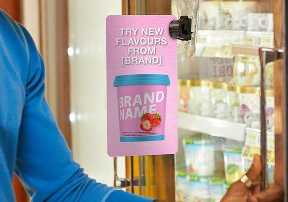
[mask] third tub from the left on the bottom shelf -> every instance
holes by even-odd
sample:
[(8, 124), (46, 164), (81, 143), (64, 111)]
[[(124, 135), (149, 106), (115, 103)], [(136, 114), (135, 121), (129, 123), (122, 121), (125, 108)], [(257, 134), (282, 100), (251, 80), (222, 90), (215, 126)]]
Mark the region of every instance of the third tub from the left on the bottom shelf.
[(209, 177), (209, 196), (210, 202), (220, 202), (226, 193), (225, 177)]

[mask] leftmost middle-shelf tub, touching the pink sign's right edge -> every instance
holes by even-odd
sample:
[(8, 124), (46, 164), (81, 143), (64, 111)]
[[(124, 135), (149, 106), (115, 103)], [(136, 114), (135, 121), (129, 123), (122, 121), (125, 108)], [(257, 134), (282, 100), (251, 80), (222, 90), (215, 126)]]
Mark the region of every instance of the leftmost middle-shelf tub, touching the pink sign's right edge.
[(188, 112), (189, 87), (186, 79), (178, 79), (178, 110)]

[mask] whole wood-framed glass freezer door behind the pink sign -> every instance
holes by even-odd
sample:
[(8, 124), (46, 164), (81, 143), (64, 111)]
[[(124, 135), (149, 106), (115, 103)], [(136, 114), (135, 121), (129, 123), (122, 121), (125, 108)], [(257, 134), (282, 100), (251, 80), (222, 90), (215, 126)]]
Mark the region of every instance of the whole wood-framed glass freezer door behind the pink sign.
[[(178, 15), (177, 0), (122, 2), (123, 14)], [(126, 157), (128, 191), (166, 202), (220, 201), (261, 153), (262, 189), (275, 183), (287, 201), (287, 9), (285, 0), (200, 1), (195, 57), (178, 43), (178, 152)]]

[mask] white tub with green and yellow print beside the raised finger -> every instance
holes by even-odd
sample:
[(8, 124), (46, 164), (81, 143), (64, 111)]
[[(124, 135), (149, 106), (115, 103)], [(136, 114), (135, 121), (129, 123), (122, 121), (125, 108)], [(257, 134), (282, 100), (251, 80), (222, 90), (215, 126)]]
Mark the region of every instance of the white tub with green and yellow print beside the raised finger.
[(231, 185), (244, 174), (242, 149), (227, 149), (224, 153), (225, 180)]

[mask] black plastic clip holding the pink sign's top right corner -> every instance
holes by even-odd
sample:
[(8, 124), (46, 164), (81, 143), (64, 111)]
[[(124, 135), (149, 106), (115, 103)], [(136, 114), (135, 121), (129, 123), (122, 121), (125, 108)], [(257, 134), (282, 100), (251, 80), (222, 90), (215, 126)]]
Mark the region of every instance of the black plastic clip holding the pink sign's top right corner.
[(173, 20), (169, 25), (171, 37), (182, 41), (191, 40), (191, 24), (192, 20), (187, 15), (180, 16), (179, 20)]

